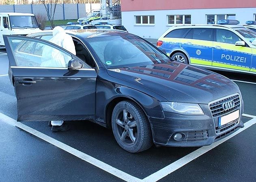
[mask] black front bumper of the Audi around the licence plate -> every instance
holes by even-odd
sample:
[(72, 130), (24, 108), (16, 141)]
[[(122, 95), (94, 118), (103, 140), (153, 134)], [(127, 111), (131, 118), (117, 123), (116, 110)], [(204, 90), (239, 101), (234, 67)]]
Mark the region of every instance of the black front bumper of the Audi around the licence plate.
[[(237, 121), (224, 127), (221, 131), (217, 127), (217, 118), (213, 118), (207, 104), (200, 104), (204, 115), (185, 116), (175, 113), (164, 112), (163, 119), (149, 118), (155, 144), (175, 147), (195, 147), (210, 145), (220, 140), (237, 129), (243, 127), (241, 115), (243, 103), (241, 102), (240, 115)], [(184, 138), (174, 140), (176, 133), (183, 133)]]

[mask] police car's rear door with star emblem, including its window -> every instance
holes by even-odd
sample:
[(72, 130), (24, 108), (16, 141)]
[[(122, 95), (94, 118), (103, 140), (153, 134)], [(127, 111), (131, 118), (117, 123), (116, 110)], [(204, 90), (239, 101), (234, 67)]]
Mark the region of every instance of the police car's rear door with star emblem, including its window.
[(181, 42), (190, 57), (189, 63), (211, 66), (213, 59), (213, 29), (192, 28)]

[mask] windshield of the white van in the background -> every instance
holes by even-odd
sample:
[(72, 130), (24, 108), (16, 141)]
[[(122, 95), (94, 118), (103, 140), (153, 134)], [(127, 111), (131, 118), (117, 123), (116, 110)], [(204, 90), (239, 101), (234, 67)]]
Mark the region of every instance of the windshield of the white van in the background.
[(10, 16), (11, 28), (39, 28), (34, 16)]

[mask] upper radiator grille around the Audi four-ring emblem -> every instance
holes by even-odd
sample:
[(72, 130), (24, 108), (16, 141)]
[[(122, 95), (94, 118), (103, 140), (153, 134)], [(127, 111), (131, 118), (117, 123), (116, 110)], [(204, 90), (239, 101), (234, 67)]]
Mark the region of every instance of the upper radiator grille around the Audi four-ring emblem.
[[(232, 100), (234, 101), (234, 108), (232, 108), (230, 110), (224, 110), (222, 108), (222, 104), (224, 102), (228, 102), (228, 101), (232, 101)], [(218, 101), (210, 104), (210, 109), (211, 109), (211, 113), (212, 113), (213, 117), (222, 116), (223, 114), (230, 113), (234, 110), (237, 110), (238, 108), (240, 108), (240, 97), (238, 94), (233, 95), (231, 97), (227, 97), (222, 100), (218, 100)]]

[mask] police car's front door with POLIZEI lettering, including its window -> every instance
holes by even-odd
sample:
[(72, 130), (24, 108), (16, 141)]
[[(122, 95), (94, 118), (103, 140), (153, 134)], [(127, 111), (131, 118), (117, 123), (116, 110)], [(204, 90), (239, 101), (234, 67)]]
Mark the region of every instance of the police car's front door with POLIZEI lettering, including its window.
[(213, 66), (239, 71), (250, 71), (252, 49), (236, 45), (242, 39), (230, 30), (215, 29), (213, 42)]

